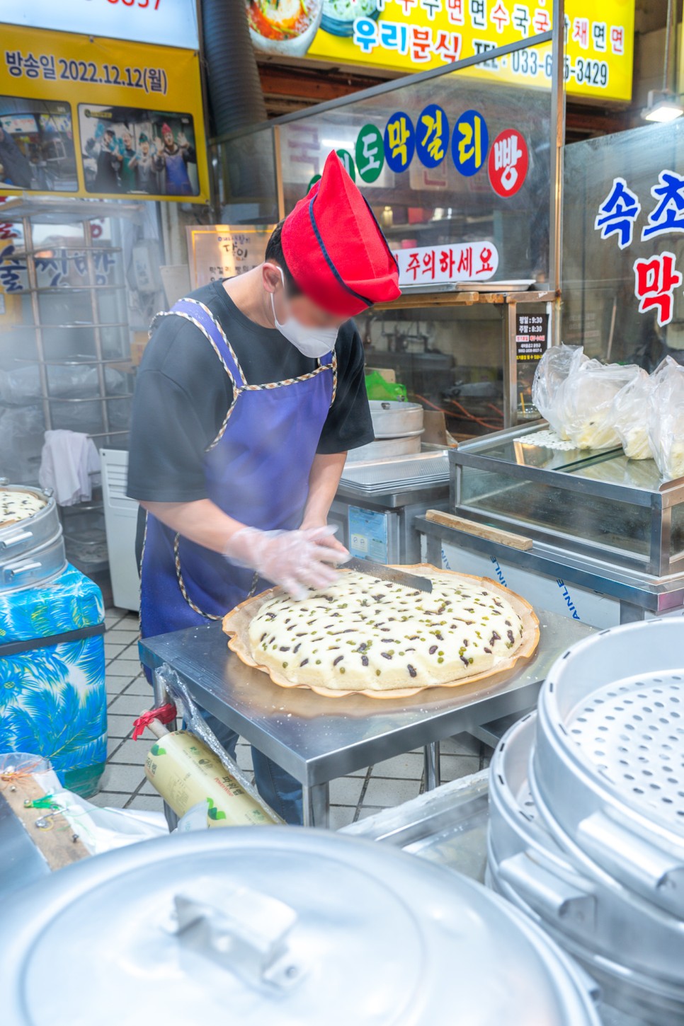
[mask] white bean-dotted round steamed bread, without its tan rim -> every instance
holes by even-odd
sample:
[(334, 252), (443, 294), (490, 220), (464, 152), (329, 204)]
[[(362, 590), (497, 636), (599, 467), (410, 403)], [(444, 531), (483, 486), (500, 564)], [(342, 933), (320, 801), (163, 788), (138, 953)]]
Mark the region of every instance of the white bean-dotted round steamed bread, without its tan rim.
[(486, 673), (521, 646), (523, 623), (504, 595), (426, 576), (431, 594), (342, 573), (301, 601), (272, 598), (250, 625), (252, 656), (294, 684), (389, 690)]

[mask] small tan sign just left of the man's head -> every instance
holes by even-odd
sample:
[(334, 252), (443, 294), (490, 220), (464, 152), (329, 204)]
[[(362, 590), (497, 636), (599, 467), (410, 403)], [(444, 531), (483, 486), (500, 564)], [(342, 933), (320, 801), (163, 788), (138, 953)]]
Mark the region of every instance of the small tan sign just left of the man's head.
[(192, 288), (252, 271), (264, 260), (274, 225), (202, 225), (189, 227), (188, 254)]

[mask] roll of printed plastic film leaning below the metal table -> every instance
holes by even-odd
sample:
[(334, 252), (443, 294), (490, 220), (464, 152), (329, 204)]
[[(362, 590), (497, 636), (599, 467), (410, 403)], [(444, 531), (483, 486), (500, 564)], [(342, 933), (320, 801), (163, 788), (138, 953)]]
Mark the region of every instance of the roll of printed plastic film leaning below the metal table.
[(199, 738), (187, 731), (166, 731), (156, 720), (149, 729), (158, 741), (148, 752), (145, 776), (177, 816), (205, 801), (210, 827), (278, 822), (244, 791)]

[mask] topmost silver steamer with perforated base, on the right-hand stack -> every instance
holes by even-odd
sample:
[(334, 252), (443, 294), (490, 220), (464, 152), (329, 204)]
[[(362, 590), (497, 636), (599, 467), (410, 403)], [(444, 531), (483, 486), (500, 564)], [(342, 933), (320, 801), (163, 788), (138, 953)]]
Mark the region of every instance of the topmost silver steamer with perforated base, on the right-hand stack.
[(684, 619), (603, 631), (556, 662), (530, 784), (566, 850), (684, 916)]

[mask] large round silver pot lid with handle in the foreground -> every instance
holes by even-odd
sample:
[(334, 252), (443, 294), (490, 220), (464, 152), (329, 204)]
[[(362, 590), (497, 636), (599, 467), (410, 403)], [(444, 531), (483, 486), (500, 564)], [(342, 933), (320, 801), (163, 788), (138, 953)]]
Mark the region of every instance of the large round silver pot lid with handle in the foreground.
[(598, 1026), (582, 979), (484, 887), (371, 842), (287, 827), (144, 841), (3, 909), (14, 1026)]

